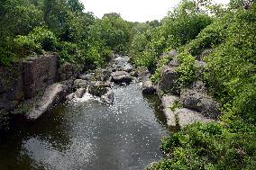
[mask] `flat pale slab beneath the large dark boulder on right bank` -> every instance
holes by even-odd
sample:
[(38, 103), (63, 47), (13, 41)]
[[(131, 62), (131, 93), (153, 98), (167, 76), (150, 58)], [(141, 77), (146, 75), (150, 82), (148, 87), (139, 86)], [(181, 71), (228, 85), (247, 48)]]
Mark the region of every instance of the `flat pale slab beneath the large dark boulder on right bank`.
[(204, 117), (199, 112), (192, 111), (187, 108), (177, 109), (174, 113), (178, 117), (178, 125), (181, 128), (184, 128), (186, 125), (192, 124), (197, 121), (200, 121), (200, 122), (214, 121), (212, 119)]

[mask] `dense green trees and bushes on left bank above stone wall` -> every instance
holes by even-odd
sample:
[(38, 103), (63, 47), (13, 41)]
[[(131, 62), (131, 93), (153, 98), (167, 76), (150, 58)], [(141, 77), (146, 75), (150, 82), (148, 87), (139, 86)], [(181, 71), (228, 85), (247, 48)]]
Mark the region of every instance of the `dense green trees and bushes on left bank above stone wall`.
[(132, 23), (118, 13), (97, 19), (78, 0), (4, 0), (0, 8), (1, 65), (50, 51), (60, 63), (100, 67), (127, 52)]

